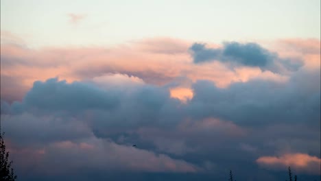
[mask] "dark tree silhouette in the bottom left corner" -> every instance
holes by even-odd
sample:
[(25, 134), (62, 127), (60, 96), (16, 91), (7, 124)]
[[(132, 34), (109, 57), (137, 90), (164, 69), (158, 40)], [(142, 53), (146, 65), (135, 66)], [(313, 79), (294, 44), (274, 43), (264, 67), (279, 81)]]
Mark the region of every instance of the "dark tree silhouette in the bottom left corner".
[(3, 141), (3, 134), (1, 133), (0, 126), (0, 180), (1, 181), (14, 181), (16, 175), (12, 169), (12, 161), (9, 161), (9, 152), (5, 152), (5, 143)]

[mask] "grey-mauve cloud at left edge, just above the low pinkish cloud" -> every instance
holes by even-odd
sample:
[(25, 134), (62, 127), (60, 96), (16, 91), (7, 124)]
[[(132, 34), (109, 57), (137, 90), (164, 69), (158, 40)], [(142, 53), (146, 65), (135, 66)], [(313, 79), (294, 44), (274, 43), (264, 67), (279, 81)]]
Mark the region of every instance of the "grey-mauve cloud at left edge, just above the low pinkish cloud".
[(26, 147), (56, 141), (76, 141), (93, 135), (86, 123), (72, 117), (1, 114), (1, 126), (12, 143)]

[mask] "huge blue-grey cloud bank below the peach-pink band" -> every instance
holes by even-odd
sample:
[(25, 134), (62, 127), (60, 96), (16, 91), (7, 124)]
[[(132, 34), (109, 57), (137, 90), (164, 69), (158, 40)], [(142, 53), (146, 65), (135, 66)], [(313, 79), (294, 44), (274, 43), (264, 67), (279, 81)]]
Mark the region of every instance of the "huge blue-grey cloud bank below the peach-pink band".
[[(292, 150), (318, 152), (318, 138), (311, 133), (320, 133), (320, 86), (303, 78), (314, 82), (318, 71), (296, 73), (285, 82), (257, 79), (226, 88), (210, 81), (187, 82), (193, 97), (186, 104), (171, 97), (171, 86), (123, 74), (70, 83), (53, 78), (35, 82), (21, 102), (3, 101), (1, 125), (10, 147), (18, 150), (12, 152), (15, 159), (23, 159), (19, 150), (27, 149), (38, 156), (37, 168), (53, 159), (53, 168), (69, 162), (60, 169), (39, 169), (39, 174), (76, 172), (85, 163), (91, 170), (203, 173), (209, 171), (206, 162), (225, 168), (232, 160), (252, 160), (246, 169), (286, 142), (295, 143), (289, 145)], [(242, 152), (233, 154), (235, 150)], [(135, 157), (145, 161), (136, 163)]]

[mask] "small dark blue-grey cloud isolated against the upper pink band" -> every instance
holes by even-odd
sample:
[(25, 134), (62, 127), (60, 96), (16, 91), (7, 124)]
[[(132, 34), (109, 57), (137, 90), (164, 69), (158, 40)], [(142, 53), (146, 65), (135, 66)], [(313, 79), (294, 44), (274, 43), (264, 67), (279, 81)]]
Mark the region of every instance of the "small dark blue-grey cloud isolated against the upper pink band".
[(293, 63), (289, 60), (278, 58), (278, 55), (258, 45), (257, 43), (224, 43), (222, 48), (207, 48), (206, 44), (194, 43), (190, 48), (193, 62), (229, 62), (248, 67), (259, 67), (272, 72), (281, 71), (281, 66), (289, 71), (296, 71), (302, 66), (301, 61)]

